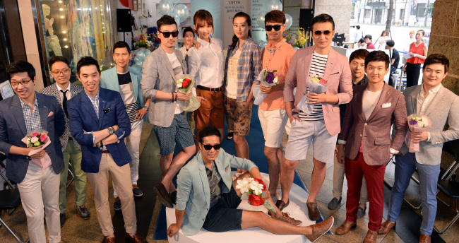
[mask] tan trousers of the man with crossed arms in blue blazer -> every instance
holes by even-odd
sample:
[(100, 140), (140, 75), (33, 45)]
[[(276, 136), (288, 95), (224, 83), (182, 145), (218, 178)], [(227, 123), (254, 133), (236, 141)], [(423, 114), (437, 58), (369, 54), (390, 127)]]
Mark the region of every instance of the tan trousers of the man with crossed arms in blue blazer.
[(108, 176), (112, 176), (113, 184), (117, 188), (121, 200), (121, 211), (123, 212), (124, 228), (129, 234), (137, 231), (136, 205), (132, 193), (131, 169), (129, 164), (118, 166), (112, 155), (102, 153), (99, 172), (86, 173), (94, 191), (95, 209), (100, 229), (105, 236), (113, 235), (112, 215), (108, 201)]

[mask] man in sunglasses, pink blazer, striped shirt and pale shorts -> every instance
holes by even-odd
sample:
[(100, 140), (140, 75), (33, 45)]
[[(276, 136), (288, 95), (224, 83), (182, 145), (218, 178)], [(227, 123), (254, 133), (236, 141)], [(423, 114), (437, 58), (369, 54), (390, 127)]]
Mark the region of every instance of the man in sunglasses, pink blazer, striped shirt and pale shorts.
[[(311, 143), (314, 148), (314, 170), (311, 190), (306, 203), (309, 218), (318, 220), (316, 196), (326, 175), (326, 164), (334, 162), (336, 139), (340, 133), (340, 107), (352, 99), (352, 76), (347, 57), (330, 47), (335, 35), (335, 23), (328, 14), (321, 14), (311, 22), (311, 37), (314, 46), (297, 50), (290, 62), (285, 78), (284, 100), (287, 115), (292, 122), (285, 160), (281, 169), (282, 202), (289, 203), (290, 187), (294, 168), (299, 160), (306, 158)], [(306, 80), (316, 73), (328, 83), (325, 93), (309, 92)], [(293, 93), (297, 87), (297, 93)], [(338, 93), (338, 90), (339, 93)], [(308, 115), (298, 102), (306, 95), (309, 104), (314, 104)]]

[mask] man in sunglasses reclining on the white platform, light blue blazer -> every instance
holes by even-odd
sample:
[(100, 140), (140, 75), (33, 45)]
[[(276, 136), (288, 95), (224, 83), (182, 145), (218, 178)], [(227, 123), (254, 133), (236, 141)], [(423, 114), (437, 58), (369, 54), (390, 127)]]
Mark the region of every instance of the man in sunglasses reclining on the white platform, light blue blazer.
[[(237, 181), (248, 177), (261, 179), (258, 167), (254, 162), (229, 155), (220, 148), (220, 131), (213, 126), (203, 129), (198, 141), (201, 150), (181, 168), (177, 177), (177, 223), (167, 229), (169, 237), (180, 228), (184, 235), (196, 235), (201, 227), (210, 232), (261, 227), (274, 234), (305, 235), (314, 242), (332, 227), (333, 217), (315, 225), (299, 227), (301, 221), (290, 218), (288, 213), (281, 213), (278, 208), (272, 217), (260, 211), (237, 209), (241, 203), (241, 192), (235, 189)], [(231, 167), (249, 172), (232, 181)], [(266, 191), (265, 199), (275, 205), (269, 191)]]

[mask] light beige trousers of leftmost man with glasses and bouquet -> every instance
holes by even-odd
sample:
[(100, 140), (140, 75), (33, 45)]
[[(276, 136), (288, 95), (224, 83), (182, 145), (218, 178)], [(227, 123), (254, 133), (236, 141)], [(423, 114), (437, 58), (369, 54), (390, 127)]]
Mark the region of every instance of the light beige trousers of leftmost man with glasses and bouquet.
[(18, 189), (20, 200), (27, 216), (30, 242), (47, 242), (44, 234), (43, 218), (46, 220), (48, 242), (60, 242), (59, 174), (56, 174), (51, 166), (43, 169), (29, 162), (27, 174), (25, 174), (23, 182), (18, 184)]

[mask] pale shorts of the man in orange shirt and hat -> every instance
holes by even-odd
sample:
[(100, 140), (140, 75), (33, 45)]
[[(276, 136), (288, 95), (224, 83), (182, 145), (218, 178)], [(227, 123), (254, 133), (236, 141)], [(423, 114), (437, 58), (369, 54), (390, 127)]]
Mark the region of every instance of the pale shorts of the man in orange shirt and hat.
[(285, 109), (262, 110), (258, 109), (261, 129), (265, 137), (265, 146), (279, 148), (284, 136), (285, 124), (288, 116)]

